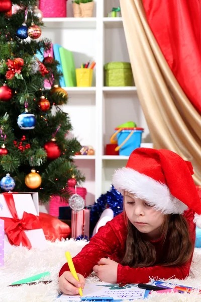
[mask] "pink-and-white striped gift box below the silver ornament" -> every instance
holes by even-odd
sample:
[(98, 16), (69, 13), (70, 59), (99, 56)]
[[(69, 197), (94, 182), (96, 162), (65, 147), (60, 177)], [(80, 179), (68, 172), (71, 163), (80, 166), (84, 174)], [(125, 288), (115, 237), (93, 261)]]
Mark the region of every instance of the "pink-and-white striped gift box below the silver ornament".
[(89, 222), (90, 222), (90, 210), (83, 209), (81, 211), (72, 210), (71, 219), (71, 238), (77, 238), (78, 236), (87, 236), (89, 239)]

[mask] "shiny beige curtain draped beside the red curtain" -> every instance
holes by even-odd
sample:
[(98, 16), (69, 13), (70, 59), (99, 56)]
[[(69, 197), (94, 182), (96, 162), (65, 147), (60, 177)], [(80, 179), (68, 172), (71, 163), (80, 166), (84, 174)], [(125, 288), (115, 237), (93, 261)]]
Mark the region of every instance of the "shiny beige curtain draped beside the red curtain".
[[(176, 152), (201, 185), (201, 118), (169, 68), (146, 20), (141, 0), (120, 0), (141, 106), (154, 147)], [(201, 101), (201, 100), (200, 100)]]

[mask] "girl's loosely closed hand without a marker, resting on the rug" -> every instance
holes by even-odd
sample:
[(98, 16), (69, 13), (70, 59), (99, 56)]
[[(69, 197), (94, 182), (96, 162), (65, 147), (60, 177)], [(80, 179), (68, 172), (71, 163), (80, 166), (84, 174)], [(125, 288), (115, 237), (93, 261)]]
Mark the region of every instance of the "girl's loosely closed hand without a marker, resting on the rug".
[(117, 262), (102, 258), (97, 264), (93, 266), (93, 271), (101, 281), (117, 283)]

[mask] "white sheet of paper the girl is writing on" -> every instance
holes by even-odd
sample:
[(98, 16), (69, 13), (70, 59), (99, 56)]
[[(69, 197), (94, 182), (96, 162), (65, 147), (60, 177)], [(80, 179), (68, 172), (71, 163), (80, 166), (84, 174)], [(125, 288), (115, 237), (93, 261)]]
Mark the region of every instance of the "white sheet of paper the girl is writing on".
[[(138, 288), (137, 284), (127, 284), (123, 287), (119, 287), (118, 284), (86, 284), (83, 289), (83, 297), (113, 297), (114, 300), (133, 300), (143, 299), (145, 289)], [(79, 296), (70, 296), (62, 294), (58, 302), (60, 301), (80, 301)]]

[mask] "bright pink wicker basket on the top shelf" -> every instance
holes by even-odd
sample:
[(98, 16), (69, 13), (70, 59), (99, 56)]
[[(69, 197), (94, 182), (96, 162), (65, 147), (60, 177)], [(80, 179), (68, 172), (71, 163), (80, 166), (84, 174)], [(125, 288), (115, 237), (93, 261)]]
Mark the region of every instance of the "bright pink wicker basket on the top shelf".
[(66, 2), (67, 0), (40, 0), (39, 9), (44, 18), (66, 18)]

